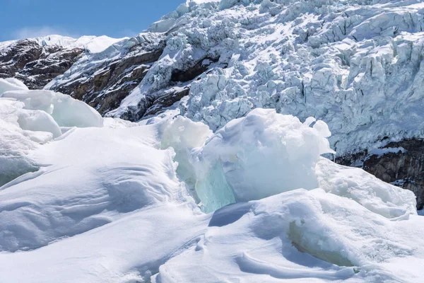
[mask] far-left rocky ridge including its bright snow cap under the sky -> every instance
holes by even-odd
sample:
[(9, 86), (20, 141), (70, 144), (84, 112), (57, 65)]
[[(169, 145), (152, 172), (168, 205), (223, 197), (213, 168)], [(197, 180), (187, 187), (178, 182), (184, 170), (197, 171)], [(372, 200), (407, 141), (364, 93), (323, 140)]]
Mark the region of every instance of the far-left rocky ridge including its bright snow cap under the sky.
[(63, 74), (83, 53), (101, 52), (122, 39), (49, 35), (0, 42), (0, 77), (16, 77), (31, 89), (43, 88)]

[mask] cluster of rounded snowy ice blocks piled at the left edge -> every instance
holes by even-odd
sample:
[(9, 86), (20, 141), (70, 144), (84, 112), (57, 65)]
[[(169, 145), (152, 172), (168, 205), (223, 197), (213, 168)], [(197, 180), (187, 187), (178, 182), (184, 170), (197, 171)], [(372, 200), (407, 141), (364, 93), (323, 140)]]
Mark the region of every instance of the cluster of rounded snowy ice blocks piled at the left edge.
[(0, 186), (40, 164), (28, 154), (66, 132), (102, 127), (102, 117), (82, 101), (52, 91), (28, 91), (17, 79), (0, 79)]

